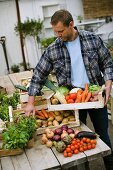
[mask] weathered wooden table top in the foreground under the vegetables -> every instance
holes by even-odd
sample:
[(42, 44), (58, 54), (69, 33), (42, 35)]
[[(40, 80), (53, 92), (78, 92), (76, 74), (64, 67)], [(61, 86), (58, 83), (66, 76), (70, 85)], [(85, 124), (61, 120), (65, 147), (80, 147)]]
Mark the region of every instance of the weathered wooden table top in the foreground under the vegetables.
[[(84, 124), (81, 128), (89, 130)], [(96, 164), (98, 160), (101, 162), (98, 170), (104, 170), (102, 158), (111, 153), (110, 148), (98, 138), (95, 149), (64, 158), (54, 147), (50, 149), (42, 145), (40, 138), (41, 135), (38, 135), (34, 147), (26, 149), (22, 155), (1, 157), (0, 170), (93, 170), (92, 163)]]

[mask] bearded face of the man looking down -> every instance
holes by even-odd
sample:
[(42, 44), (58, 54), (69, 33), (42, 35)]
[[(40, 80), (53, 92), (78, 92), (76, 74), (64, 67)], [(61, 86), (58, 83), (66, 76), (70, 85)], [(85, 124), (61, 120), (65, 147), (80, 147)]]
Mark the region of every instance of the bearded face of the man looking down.
[(62, 22), (58, 22), (56, 25), (52, 25), (52, 28), (57, 35), (63, 41), (71, 41), (73, 37), (73, 22), (71, 21), (69, 26), (64, 26)]

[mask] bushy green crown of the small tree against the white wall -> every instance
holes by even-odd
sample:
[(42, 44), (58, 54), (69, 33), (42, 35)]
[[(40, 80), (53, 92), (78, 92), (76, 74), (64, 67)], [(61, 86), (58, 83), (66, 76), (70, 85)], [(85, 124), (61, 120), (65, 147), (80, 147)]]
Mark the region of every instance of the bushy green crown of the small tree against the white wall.
[(27, 18), (24, 22), (19, 22), (15, 26), (14, 30), (16, 33), (22, 33), (24, 37), (27, 35), (38, 37), (43, 27), (43, 21), (40, 19), (29, 19)]

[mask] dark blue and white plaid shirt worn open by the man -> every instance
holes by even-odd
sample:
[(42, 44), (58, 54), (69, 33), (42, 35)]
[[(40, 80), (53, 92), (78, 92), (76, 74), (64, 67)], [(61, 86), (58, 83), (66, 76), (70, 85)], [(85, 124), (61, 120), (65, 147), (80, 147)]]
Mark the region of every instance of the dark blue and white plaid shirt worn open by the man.
[[(107, 80), (113, 80), (111, 55), (101, 38), (87, 31), (80, 31), (79, 37), (89, 82), (102, 85)], [(53, 69), (59, 86), (71, 86), (71, 60), (65, 44), (60, 38), (57, 38), (42, 54), (32, 76), (29, 87), (30, 96), (35, 96), (40, 92), (48, 74)]]

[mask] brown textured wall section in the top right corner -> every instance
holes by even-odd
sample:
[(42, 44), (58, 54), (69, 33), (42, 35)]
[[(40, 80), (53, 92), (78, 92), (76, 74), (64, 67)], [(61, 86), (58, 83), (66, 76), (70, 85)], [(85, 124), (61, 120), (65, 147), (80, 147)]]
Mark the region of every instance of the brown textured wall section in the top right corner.
[(83, 0), (86, 19), (113, 16), (113, 0)]

